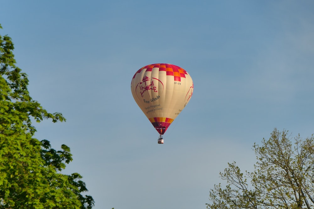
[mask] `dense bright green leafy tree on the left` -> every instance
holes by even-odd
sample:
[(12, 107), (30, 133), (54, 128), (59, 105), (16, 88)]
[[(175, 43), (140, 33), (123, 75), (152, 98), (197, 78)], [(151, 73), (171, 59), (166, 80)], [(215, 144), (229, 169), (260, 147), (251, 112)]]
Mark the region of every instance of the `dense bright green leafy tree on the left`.
[(57, 151), (49, 141), (34, 138), (33, 119), (55, 123), (65, 118), (30, 97), (13, 50), (11, 38), (0, 35), (0, 208), (90, 209), (94, 200), (84, 195), (82, 176), (60, 172), (72, 161), (69, 147), (63, 144)]

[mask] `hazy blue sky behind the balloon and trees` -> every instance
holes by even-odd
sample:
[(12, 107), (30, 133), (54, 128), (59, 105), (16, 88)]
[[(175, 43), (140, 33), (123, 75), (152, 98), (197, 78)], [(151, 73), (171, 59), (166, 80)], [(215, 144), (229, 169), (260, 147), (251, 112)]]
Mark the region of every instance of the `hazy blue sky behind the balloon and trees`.
[[(219, 172), (250, 170), (273, 128), (314, 133), (313, 1), (3, 1), (29, 91), (66, 123), (36, 138), (73, 153), (95, 209), (206, 208)], [(191, 101), (159, 134), (133, 100), (134, 73), (185, 69)]]

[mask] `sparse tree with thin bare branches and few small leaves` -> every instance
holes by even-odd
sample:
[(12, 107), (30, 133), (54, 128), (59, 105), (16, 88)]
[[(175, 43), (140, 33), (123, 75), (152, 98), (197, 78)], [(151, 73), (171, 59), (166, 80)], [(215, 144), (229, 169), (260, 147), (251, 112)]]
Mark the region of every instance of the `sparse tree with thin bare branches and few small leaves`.
[(241, 172), (236, 162), (220, 172), (227, 182), (214, 185), (206, 204), (211, 209), (310, 209), (314, 208), (314, 137), (293, 137), (288, 131), (271, 133), (261, 145), (254, 172)]

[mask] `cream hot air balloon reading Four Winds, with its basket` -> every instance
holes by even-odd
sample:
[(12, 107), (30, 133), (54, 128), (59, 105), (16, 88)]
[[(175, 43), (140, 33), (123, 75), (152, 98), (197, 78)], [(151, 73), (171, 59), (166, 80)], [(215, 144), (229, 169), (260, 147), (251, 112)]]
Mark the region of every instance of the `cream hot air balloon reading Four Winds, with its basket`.
[(131, 81), (134, 100), (160, 134), (163, 134), (190, 101), (193, 81), (183, 68), (171, 64), (151, 64), (139, 69)]

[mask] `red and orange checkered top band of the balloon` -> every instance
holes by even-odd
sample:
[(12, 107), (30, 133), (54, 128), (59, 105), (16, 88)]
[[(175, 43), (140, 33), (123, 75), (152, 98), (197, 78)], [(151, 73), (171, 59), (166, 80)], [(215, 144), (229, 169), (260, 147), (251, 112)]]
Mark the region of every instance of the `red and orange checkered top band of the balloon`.
[(185, 78), (185, 75), (187, 74), (187, 71), (179, 66), (159, 63), (142, 67), (134, 74), (133, 78), (135, 78), (136, 74), (140, 73), (143, 69), (146, 69), (146, 71), (152, 71), (152, 69), (156, 67), (159, 68), (159, 71), (166, 71), (167, 76), (174, 76), (175, 81), (181, 81), (181, 78)]

